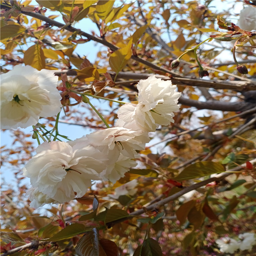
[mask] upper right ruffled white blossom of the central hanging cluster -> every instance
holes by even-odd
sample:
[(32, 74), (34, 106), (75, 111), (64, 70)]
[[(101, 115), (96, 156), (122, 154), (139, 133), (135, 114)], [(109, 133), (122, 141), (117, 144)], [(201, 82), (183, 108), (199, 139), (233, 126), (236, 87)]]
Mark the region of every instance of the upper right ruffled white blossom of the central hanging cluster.
[(176, 85), (171, 81), (157, 79), (155, 75), (140, 80), (138, 88), (138, 104), (126, 103), (120, 107), (116, 126), (128, 127), (136, 124), (142, 131), (155, 131), (159, 125), (169, 125), (173, 120), (173, 111), (181, 93), (175, 91)]

